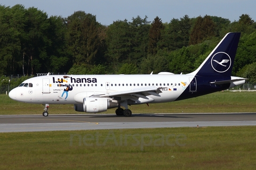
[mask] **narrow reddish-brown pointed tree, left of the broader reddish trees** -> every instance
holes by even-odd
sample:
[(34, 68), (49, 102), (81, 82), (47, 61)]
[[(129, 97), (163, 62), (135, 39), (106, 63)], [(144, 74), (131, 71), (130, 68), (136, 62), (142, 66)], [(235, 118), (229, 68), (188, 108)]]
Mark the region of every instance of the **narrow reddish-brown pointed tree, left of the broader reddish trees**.
[(149, 29), (148, 54), (155, 55), (157, 54), (157, 50), (161, 48), (157, 45), (157, 43), (162, 39), (163, 30), (164, 25), (162, 20), (156, 16)]

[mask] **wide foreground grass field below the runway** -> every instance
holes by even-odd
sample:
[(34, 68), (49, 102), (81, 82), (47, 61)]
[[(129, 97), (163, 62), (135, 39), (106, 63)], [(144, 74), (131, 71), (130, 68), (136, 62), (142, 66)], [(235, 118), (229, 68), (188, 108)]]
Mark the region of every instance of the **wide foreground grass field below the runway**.
[(255, 141), (255, 126), (0, 133), (0, 169), (255, 169)]

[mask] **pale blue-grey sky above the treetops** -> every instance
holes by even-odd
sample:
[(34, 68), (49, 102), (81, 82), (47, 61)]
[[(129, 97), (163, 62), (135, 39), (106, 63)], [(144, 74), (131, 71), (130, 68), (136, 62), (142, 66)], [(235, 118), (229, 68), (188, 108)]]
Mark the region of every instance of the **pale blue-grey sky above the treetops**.
[(255, 0), (1, 0), (0, 4), (10, 7), (22, 4), (25, 8), (34, 6), (49, 17), (67, 18), (76, 11), (84, 11), (96, 15), (97, 21), (103, 25), (117, 20), (132, 21), (138, 15), (142, 19), (147, 15), (150, 22), (158, 16), (163, 23), (185, 15), (189, 18), (211, 15), (234, 22), (242, 14), (248, 14), (256, 21)]

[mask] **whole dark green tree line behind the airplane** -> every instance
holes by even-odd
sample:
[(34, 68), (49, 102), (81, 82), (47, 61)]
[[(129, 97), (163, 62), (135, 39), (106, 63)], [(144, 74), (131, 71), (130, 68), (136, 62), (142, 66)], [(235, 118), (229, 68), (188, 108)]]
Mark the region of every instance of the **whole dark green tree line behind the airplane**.
[(233, 75), (256, 82), (256, 23), (247, 14), (230, 22), (217, 16), (100, 24), (76, 11), (67, 18), (36, 7), (0, 5), (0, 77), (68, 74), (189, 73), (227, 32), (242, 32)]

